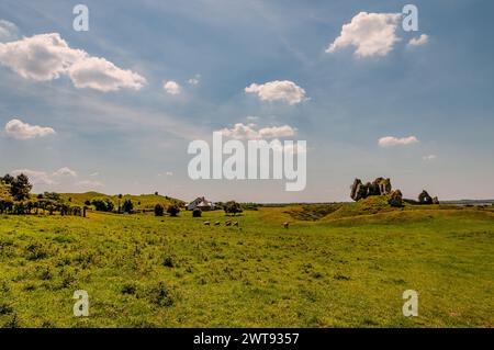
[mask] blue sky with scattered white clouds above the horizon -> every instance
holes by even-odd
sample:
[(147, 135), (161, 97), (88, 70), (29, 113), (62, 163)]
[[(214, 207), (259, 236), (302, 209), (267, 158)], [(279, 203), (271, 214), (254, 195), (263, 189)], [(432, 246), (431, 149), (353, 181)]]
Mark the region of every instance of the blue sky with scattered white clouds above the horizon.
[[(350, 201), (355, 178), (405, 197), (494, 197), (494, 3), (0, 2), (0, 173), (35, 192), (186, 201)], [(285, 180), (192, 180), (192, 140), (306, 140)]]

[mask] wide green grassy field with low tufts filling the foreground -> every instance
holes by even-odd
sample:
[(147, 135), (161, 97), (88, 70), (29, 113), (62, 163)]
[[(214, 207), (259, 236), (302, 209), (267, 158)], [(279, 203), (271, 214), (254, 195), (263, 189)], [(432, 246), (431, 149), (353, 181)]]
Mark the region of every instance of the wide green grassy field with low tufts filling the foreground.
[[(226, 219), (0, 216), (0, 326), (494, 327), (491, 208), (355, 203)], [(76, 290), (89, 317), (72, 315)], [(402, 314), (405, 290), (418, 317)]]

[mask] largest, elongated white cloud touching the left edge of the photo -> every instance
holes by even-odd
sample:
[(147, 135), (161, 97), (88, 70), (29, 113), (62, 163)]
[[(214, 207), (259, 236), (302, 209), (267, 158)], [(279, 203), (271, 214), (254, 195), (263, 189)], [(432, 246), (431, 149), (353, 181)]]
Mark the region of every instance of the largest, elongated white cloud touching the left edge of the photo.
[(131, 70), (71, 48), (58, 33), (0, 43), (0, 64), (25, 79), (48, 81), (67, 75), (76, 88), (103, 92), (121, 88), (139, 90), (146, 83), (145, 78)]

